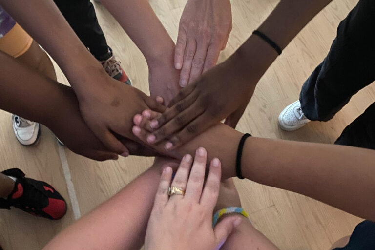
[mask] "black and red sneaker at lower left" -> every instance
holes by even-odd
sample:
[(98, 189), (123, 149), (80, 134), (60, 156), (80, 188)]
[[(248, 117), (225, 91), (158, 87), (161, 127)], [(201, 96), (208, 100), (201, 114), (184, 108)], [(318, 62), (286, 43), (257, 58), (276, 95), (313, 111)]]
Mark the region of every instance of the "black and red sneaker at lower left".
[(35, 216), (50, 220), (61, 219), (66, 213), (66, 202), (51, 185), (26, 178), (18, 168), (11, 168), (1, 173), (17, 178), (14, 189), (7, 199), (0, 198), (0, 208), (20, 208)]

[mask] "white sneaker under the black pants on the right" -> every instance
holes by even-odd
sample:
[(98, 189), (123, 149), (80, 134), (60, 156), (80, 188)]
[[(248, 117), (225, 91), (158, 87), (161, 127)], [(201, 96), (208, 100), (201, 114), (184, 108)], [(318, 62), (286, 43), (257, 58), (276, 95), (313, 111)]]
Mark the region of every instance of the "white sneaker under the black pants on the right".
[(301, 128), (308, 122), (310, 122), (310, 120), (303, 114), (299, 101), (288, 105), (279, 115), (279, 125), (283, 130), (287, 131)]

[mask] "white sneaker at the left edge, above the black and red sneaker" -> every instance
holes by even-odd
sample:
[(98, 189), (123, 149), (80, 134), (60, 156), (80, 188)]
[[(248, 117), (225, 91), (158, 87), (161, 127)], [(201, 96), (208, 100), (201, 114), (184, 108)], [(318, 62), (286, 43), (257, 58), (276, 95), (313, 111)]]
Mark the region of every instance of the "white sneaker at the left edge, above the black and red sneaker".
[(39, 123), (26, 120), (18, 115), (12, 115), (13, 130), (17, 140), (24, 146), (35, 144), (41, 134)]

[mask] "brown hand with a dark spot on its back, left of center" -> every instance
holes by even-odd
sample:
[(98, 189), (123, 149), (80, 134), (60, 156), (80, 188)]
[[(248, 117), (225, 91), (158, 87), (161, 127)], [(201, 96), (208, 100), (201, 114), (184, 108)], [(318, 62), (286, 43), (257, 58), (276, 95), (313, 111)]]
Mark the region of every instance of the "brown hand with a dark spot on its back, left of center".
[(82, 117), (104, 146), (112, 152), (128, 156), (129, 150), (114, 134), (136, 139), (131, 132), (134, 114), (142, 112), (145, 107), (158, 110), (165, 107), (140, 90), (106, 74), (94, 74), (91, 78), (92, 86), (84, 92), (79, 91), (77, 95)]

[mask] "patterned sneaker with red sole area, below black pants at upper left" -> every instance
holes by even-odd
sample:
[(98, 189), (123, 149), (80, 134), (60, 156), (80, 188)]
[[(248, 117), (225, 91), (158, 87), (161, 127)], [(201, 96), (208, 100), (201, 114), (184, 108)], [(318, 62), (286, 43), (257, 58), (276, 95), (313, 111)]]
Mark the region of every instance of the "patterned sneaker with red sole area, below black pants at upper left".
[(99, 62), (102, 63), (105, 72), (107, 72), (110, 77), (131, 86), (130, 79), (127, 77), (125, 71), (121, 68), (121, 62), (118, 61), (113, 55), (111, 48), (108, 47), (108, 52), (103, 56), (103, 58), (105, 59)]

